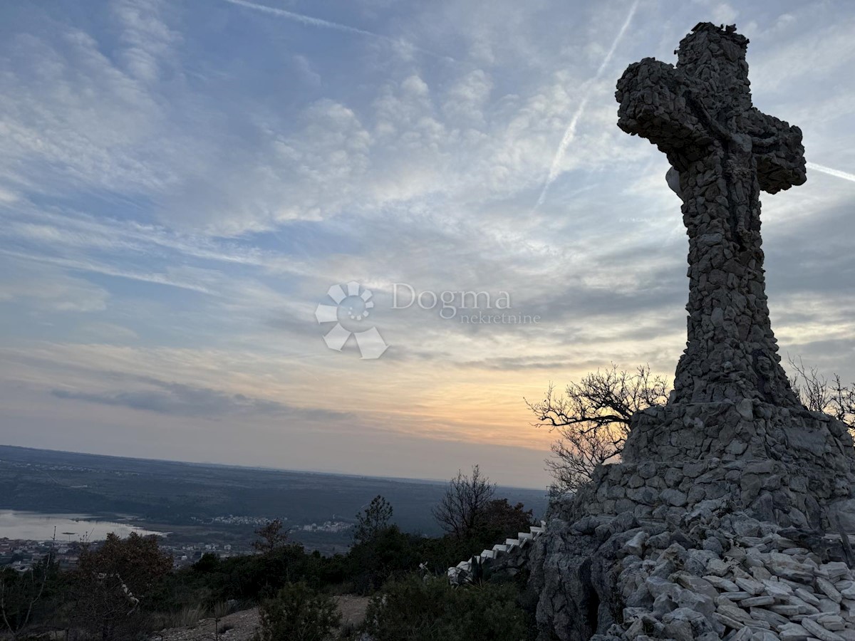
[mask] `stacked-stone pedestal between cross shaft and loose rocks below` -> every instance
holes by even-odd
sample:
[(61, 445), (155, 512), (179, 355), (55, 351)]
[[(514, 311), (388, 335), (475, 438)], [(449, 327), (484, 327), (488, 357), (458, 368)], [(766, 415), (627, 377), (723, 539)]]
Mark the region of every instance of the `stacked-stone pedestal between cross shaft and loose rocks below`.
[(847, 426), (828, 415), (750, 399), (674, 404), (634, 417), (623, 461), (598, 469), (576, 503), (588, 514), (673, 520), (729, 497), (760, 520), (820, 527), (824, 505), (852, 497), (853, 470)]

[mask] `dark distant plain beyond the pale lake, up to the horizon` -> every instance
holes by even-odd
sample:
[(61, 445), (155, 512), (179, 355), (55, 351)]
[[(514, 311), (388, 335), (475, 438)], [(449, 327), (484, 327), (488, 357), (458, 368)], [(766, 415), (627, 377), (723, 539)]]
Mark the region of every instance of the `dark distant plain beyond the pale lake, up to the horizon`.
[[(292, 538), (324, 552), (340, 551), (350, 532), (309, 532), (325, 521), (351, 522), (378, 494), (406, 532), (439, 534), (431, 508), (445, 484), (263, 468), (151, 461), (0, 445), (0, 510), (41, 515), (90, 515), (150, 531), (170, 532), (170, 543), (216, 541), (244, 547), (257, 525), (222, 523), (227, 515), (281, 518)], [(497, 497), (522, 502), (536, 516), (545, 491), (498, 487)], [(28, 518), (34, 518), (32, 515)], [(0, 538), (19, 538), (11, 517), (0, 518)], [(65, 522), (65, 521), (61, 521)], [(19, 525), (21, 521), (19, 519)], [(58, 531), (81, 533), (92, 525)], [(102, 528), (97, 528), (99, 535)], [(118, 529), (118, 528), (117, 528)], [(62, 535), (61, 535), (62, 536)], [(23, 537), (21, 537), (23, 538)], [(94, 537), (100, 538), (100, 536)]]

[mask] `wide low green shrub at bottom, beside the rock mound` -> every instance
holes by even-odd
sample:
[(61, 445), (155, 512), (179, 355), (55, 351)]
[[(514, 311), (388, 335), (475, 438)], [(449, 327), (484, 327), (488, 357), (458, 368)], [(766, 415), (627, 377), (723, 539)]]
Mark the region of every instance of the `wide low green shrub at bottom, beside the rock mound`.
[(412, 575), (371, 599), (366, 632), (375, 641), (524, 641), (528, 616), (513, 585), (452, 588)]

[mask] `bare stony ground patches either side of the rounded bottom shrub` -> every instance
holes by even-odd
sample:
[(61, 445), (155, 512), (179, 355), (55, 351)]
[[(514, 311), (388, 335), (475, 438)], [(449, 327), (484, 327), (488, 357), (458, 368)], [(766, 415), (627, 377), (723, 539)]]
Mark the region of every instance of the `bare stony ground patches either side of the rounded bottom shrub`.
[[(357, 597), (352, 594), (335, 597), (339, 604), (342, 627), (359, 625), (365, 618), (368, 607), (368, 597)], [(218, 632), (215, 634), (215, 620), (198, 620), (192, 626), (174, 627), (162, 630), (151, 637), (151, 641), (251, 641), (258, 627), (258, 609), (241, 610), (227, 615), (220, 620)]]

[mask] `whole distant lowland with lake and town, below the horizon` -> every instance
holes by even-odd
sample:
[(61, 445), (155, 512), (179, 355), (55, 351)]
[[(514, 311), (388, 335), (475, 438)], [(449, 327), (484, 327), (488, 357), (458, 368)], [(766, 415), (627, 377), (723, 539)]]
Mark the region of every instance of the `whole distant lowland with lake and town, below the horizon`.
[[(356, 515), (376, 496), (404, 532), (440, 533), (435, 481), (381, 479), (99, 456), (0, 445), (0, 567), (26, 572), (53, 550), (74, 567), (82, 544), (107, 532), (156, 533), (176, 567), (203, 555), (255, 553), (255, 532), (279, 518), (290, 540), (322, 556), (345, 554)], [(545, 492), (500, 488), (540, 515)], [(52, 536), (56, 533), (55, 536)]]

